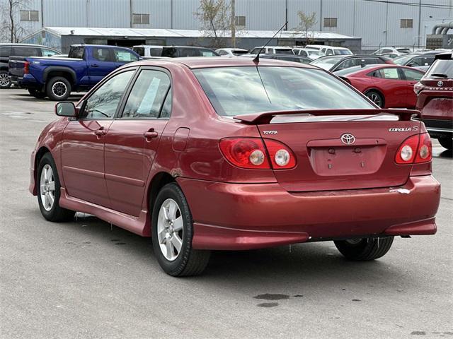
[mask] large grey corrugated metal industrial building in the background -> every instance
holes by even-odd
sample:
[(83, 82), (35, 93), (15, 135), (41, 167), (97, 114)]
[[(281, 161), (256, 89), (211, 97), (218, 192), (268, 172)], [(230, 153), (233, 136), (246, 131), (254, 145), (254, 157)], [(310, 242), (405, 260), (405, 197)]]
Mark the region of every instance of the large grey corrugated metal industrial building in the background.
[[(21, 25), (29, 35), (41, 30), (39, 34), (46, 37), (46, 32), (51, 34), (52, 28), (59, 28), (59, 36), (62, 28), (67, 28), (69, 32), (74, 30), (72, 35), (78, 35), (77, 28), (137, 28), (155, 30), (154, 33), (161, 30), (166, 35), (172, 30), (180, 35), (180, 30), (184, 30), (185, 35), (190, 36), (187, 40), (178, 40), (182, 43), (193, 42), (193, 35), (200, 34), (195, 32), (200, 29), (200, 22), (195, 16), (199, 6), (200, 0), (30, 0), (20, 16)], [(336, 41), (338, 45), (345, 45), (343, 42), (350, 40), (347, 38), (350, 37), (352, 40), (361, 38), (364, 50), (391, 45), (423, 47), (426, 36), (430, 35), (435, 25), (453, 21), (453, 0), (235, 0), (236, 22), (241, 24), (241, 31), (251, 35), (257, 35), (255, 31), (275, 32), (285, 21), (288, 21), (285, 30), (290, 35), (289, 32), (299, 25), (298, 11), (316, 13), (313, 30), (319, 32), (319, 37), (323, 33), (335, 33), (337, 37), (343, 35), (338, 40), (340, 42)], [(111, 32), (105, 38), (98, 35), (79, 36), (88, 40), (83, 42), (109, 40), (109, 37), (115, 40), (115, 34)], [(171, 37), (159, 37), (154, 33), (145, 33), (142, 35), (145, 38), (139, 40), (172, 42)], [(123, 38), (130, 36), (129, 32), (120, 34)], [(32, 40), (36, 39), (35, 34)], [(248, 47), (246, 42), (251, 44), (252, 40), (244, 38), (239, 44)], [(255, 42), (261, 43), (258, 40)], [(64, 48), (65, 42), (60, 44)]]

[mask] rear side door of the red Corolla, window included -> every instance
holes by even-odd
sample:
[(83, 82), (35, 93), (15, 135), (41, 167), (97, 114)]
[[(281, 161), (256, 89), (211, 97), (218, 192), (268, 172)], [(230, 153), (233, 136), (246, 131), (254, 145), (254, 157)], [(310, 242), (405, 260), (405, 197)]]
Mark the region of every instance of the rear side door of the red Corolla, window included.
[(121, 113), (105, 136), (105, 181), (111, 208), (138, 217), (149, 170), (169, 114), (170, 76), (164, 69), (143, 68), (125, 97)]

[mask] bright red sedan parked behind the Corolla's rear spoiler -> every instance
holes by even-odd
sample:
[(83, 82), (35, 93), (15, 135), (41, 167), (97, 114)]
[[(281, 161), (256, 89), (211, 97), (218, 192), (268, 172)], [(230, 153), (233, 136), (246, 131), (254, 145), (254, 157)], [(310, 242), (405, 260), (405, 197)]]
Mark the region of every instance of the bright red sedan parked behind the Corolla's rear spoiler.
[(334, 74), (360, 90), (379, 107), (413, 109), (417, 102), (413, 85), (424, 73), (406, 66), (371, 65)]

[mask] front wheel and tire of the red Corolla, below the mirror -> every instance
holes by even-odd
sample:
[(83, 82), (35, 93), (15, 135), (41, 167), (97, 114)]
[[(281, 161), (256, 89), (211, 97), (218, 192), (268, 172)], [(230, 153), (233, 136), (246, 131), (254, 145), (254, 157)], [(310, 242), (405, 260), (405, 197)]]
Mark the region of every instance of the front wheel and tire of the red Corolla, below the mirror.
[(38, 187), (38, 204), (45, 220), (59, 222), (74, 218), (74, 210), (67, 210), (59, 206), (61, 185), (57, 166), (50, 153), (45, 153), (40, 160), (36, 185)]

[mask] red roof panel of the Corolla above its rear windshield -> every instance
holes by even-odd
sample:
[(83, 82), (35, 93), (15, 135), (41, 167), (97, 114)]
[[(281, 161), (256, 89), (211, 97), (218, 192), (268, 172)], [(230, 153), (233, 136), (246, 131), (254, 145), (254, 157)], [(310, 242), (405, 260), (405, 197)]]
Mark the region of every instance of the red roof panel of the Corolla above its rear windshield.
[[(292, 54), (291, 54), (292, 55)], [(137, 61), (129, 65), (141, 66), (165, 66), (168, 64), (181, 64), (189, 69), (205, 69), (214, 67), (233, 67), (233, 66), (256, 66), (256, 62), (251, 58), (229, 58), (229, 57), (185, 57), (171, 59), (156, 59)], [(260, 59), (259, 66), (296, 66), (306, 69), (318, 69), (318, 67), (307, 64), (290, 64), (288, 61), (276, 59)]]

